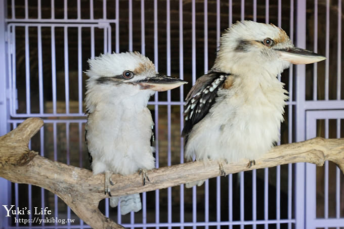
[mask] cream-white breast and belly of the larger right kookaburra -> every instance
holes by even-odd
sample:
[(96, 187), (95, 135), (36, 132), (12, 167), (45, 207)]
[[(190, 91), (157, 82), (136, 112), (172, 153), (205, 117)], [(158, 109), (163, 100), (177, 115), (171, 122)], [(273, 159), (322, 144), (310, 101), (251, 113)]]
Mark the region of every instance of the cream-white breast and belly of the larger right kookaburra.
[(236, 78), (229, 89), (221, 89), (209, 113), (189, 134), (186, 157), (237, 161), (253, 160), (279, 140), (285, 100), (283, 83), (269, 85)]

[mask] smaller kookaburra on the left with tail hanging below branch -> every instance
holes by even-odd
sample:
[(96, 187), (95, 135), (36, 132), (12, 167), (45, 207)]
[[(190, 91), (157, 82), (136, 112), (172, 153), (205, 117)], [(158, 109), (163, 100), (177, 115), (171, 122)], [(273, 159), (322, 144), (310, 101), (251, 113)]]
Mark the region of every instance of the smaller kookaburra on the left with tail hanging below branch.
[[(104, 54), (88, 62), (85, 140), (93, 173), (105, 173), (105, 192), (111, 196), (112, 173), (140, 170), (145, 182), (145, 171), (155, 167), (149, 98), (155, 91), (186, 82), (159, 75), (154, 64), (137, 52)], [(110, 206), (119, 201), (122, 215), (141, 209), (140, 194), (111, 197)]]

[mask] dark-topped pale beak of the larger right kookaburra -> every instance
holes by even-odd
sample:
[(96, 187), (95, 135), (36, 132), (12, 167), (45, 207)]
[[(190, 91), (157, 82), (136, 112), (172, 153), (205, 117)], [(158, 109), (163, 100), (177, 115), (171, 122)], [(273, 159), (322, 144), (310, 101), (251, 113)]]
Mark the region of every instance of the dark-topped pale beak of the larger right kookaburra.
[(312, 64), (323, 61), (326, 57), (300, 48), (277, 50), (279, 58), (292, 64)]

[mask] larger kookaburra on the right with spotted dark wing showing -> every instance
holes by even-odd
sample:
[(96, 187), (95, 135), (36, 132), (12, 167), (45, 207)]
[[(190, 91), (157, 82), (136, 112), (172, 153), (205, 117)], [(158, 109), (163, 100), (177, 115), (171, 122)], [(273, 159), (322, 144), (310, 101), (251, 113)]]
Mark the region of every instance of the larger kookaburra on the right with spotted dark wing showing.
[[(242, 21), (226, 30), (213, 67), (186, 98), (185, 156), (233, 162), (254, 159), (280, 138), (288, 91), (277, 75), (292, 64), (326, 59), (295, 48), (281, 28)], [(223, 172), (223, 170), (222, 170)], [(202, 185), (192, 182), (187, 187)]]

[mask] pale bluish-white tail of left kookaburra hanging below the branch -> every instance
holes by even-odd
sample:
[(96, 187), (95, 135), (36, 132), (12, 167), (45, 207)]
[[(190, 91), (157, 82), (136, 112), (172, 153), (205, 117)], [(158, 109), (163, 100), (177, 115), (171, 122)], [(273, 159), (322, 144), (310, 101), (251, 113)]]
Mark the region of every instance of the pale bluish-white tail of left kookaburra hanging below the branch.
[(138, 212), (142, 209), (141, 198), (140, 194), (132, 194), (128, 196), (121, 196), (121, 197), (111, 197), (110, 198), (110, 206), (116, 207), (120, 206), (120, 213), (121, 215), (125, 215), (131, 211)]

